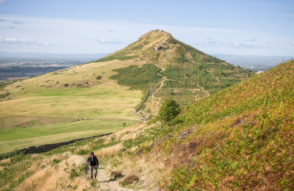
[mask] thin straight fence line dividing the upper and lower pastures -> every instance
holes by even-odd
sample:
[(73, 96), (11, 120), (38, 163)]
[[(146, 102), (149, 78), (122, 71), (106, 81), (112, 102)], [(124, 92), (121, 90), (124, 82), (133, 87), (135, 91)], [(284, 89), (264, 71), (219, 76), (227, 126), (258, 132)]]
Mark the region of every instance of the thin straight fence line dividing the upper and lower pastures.
[(0, 117), (35, 117), (35, 118), (57, 118), (57, 119), (74, 119), (74, 120), (110, 120), (110, 121), (138, 121), (133, 118), (106, 117), (106, 118), (86, 118), (86, 117), (64, 117), (64, 116), (39, 116), (39, 115), (0, 115)]

